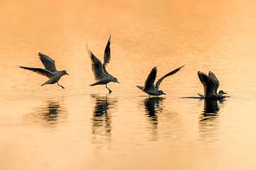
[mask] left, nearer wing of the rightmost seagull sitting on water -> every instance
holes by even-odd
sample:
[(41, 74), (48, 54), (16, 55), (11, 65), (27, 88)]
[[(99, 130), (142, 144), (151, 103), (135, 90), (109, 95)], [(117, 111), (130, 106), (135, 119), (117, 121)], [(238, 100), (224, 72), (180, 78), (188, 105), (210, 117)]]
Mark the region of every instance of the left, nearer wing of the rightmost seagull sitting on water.
[(198, 77), (203, 84), (205, 97), (215, 95), (215, 82), (207, 74), (198, 71)]

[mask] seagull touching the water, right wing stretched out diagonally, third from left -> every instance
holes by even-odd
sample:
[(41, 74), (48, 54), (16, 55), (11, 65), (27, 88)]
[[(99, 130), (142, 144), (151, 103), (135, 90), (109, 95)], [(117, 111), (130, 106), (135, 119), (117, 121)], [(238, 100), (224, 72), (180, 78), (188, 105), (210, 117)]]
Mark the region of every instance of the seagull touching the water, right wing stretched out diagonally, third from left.
[[(161, 77), (161, 79), (159, 79), (157, 82), (156, 82), (156, 86), (154, 86), (154, 81), (156, 79), (156, 72), (157, 72), (157, 69), (156, 67), (154, 67), (148, 78), (146, 79), (145, 81), (145, 85), (144, 86), (137, 86), (139, 89), (141, 89), (142, 91), (144, 91), (146, 94), (149, 94), (149, 97), (150, 95), (151, 96), (160, 96), (162, 94), (165, 94), (164, 91), (159, 91), (159, 86), (161, 84), (161, 81), (164, 80), (164, 78), (166, 77), (169, 77), (173, 74), (175, 74), (176, 72), (178, 72), (182, 67), (184, 67), (185, 65), (181, 66), (181, 67), (178, 67), (178, 69), (174, 69), (173, 71), (165, 74), (163, 77)], [(166, 95), (166, 94), (165, 94)]]

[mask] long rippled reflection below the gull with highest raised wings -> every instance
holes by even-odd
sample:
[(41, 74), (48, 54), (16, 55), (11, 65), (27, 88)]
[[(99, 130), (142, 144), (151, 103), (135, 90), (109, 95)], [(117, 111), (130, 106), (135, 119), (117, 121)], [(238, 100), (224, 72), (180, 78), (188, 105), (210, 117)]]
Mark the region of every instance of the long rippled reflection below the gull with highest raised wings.
[(112, 109), (116, 107), (116, 100), (107, 96), (91, 95), (95, 98), (95, 108), (92, 114), (92, 135), (94, 143), (110, 142)]

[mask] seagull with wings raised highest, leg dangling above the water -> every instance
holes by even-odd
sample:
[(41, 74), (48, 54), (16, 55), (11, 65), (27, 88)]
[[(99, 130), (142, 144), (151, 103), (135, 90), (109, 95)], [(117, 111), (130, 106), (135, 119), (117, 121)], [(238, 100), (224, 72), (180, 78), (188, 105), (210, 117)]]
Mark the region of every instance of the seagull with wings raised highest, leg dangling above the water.
[(92, 52), (90, 51), (90, 48), (87, 45), (86, 45), (86, 47), (87, 47), (87, 51), (90, 55), (90, 59), (92, 60), (92, 72), (94, 74), (95, 81), (96, 81), (94, 84), (90, 84), (90, 86), (105, 84), (106, 88), (111, 93), (112, 91), (107, 87), (107, 84), (110, 83), (111, 81), (119, 84), (119, 81), (117, 80), (117, 78), (113, 77), (110, 73), (108, 73), (107, 69), (106, 69), (107, 63), (110, 63), (110, 57), (111, 57), (111, 55), (110, 55), (110, 39), (111, 39), (111, 35), (110, 35), (110, 38), (107, 41), (107, 45), (105, 47), (104, 63), (103, 64), (102, 64), (102, 62), (100, 62), (100, 60), (97, 57), (95, 57), (95, 55), (92, 54)]

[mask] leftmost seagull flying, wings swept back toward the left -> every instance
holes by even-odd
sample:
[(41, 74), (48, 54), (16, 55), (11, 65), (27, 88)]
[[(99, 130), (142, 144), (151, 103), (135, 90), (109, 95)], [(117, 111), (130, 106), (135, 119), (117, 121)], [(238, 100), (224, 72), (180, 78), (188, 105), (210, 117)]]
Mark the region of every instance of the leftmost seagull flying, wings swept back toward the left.
[[(57, 69), (55, 67), (55, 61), (53, 59), (51, 59), (50, 57), (48, 57), (47, 55), (44, 55), (43, 53), (39, 52), (38, 56), (39, 56), (39, 59), (41, 60), (41, 62), (43, 63), (45, 69), (23, 67), (23, 66), (20, 66), (20, 67), (22, 69), (28, 69), (32, 72), (36, 72), (38, 74), (48, 77), (49, 78), (48, 81), (46, 81), (41, 86), (44, 86), (46, 84), (55, 84), (55, 83), (58, 84), (60, 77), (62, 77), (63, 75), (69, 75), (65, 70), (57, 71)], [(58, 86), (61, 86), (61, 85), (58, 84)], [(61, 86), (61, 87), (62, 87), (62, 89), (65, 89), (63, 86)]]

